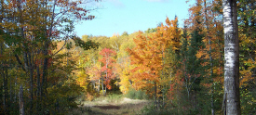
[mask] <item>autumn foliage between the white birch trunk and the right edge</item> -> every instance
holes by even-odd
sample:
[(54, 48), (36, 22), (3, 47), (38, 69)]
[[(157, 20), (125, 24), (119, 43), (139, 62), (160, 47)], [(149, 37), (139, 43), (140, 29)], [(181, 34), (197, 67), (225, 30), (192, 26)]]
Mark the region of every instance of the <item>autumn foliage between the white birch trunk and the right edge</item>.
[(250, 103), (256, 98), (255, 5), (255, 0), (237, 0), (241, 114), (254, 114), (256, 111), (256, 103)]

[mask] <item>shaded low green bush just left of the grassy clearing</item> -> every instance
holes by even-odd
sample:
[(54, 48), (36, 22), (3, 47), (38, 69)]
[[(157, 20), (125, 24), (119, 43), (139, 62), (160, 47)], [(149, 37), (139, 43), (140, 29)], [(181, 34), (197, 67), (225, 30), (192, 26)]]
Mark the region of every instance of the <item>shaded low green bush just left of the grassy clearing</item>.
[(35, 111), (37, 114), (44, 114), (48, 111), (49, 114), (65, 114), (70, 109), (76, 109), (79, 103), (75, 100), (83, 91), (79, 85), (74, 83), (59, 83), (48, 90), (48, 96), (44, 103), (47, 105), (41, 111)]

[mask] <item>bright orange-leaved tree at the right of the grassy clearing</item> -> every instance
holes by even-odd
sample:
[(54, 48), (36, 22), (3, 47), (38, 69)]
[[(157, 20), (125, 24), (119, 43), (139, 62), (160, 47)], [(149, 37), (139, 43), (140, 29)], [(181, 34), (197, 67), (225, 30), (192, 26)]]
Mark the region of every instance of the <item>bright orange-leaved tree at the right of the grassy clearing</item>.
[[(156, 109), (160, 107), (160, 99), (165, 95), (164, 88), (169, 83), (169, 77), (164, 75), (164, 58), (169, 48), (178, 52), (180, 48), (181, 31), (178, 29), (178, 18), (166, 19), (166, 24), (161, 24), (157, 32), (146, 36), (140, 34), (133, 39), (135, 47), (128, 48), (131, 64), (135, 66), (130, 70), (130, 80), (136, 90), (144, 89), (155, 97)], [(157, 102), (156, 102), (157, 101)]]

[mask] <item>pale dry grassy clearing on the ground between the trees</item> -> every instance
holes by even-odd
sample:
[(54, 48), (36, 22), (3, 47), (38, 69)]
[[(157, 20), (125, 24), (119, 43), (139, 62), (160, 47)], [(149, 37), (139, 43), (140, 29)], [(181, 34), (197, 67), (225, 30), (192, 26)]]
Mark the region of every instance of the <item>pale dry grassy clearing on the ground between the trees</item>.
[(141, 109), (150, 102), (148, 100), (130, 99), (122, 95), (109, 95), (84, 101), (72, 115), (138, 115)]

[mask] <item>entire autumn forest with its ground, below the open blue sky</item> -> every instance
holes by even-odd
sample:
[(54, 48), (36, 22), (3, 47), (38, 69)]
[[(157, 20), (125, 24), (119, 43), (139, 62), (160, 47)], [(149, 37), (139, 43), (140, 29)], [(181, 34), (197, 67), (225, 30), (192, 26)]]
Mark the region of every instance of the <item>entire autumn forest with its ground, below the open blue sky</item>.
[(255, 0), (195, 0), (183, 22), (111, 37), (75, 34), (84, 4), (1, 0), (1, 114), (256, 114)]

